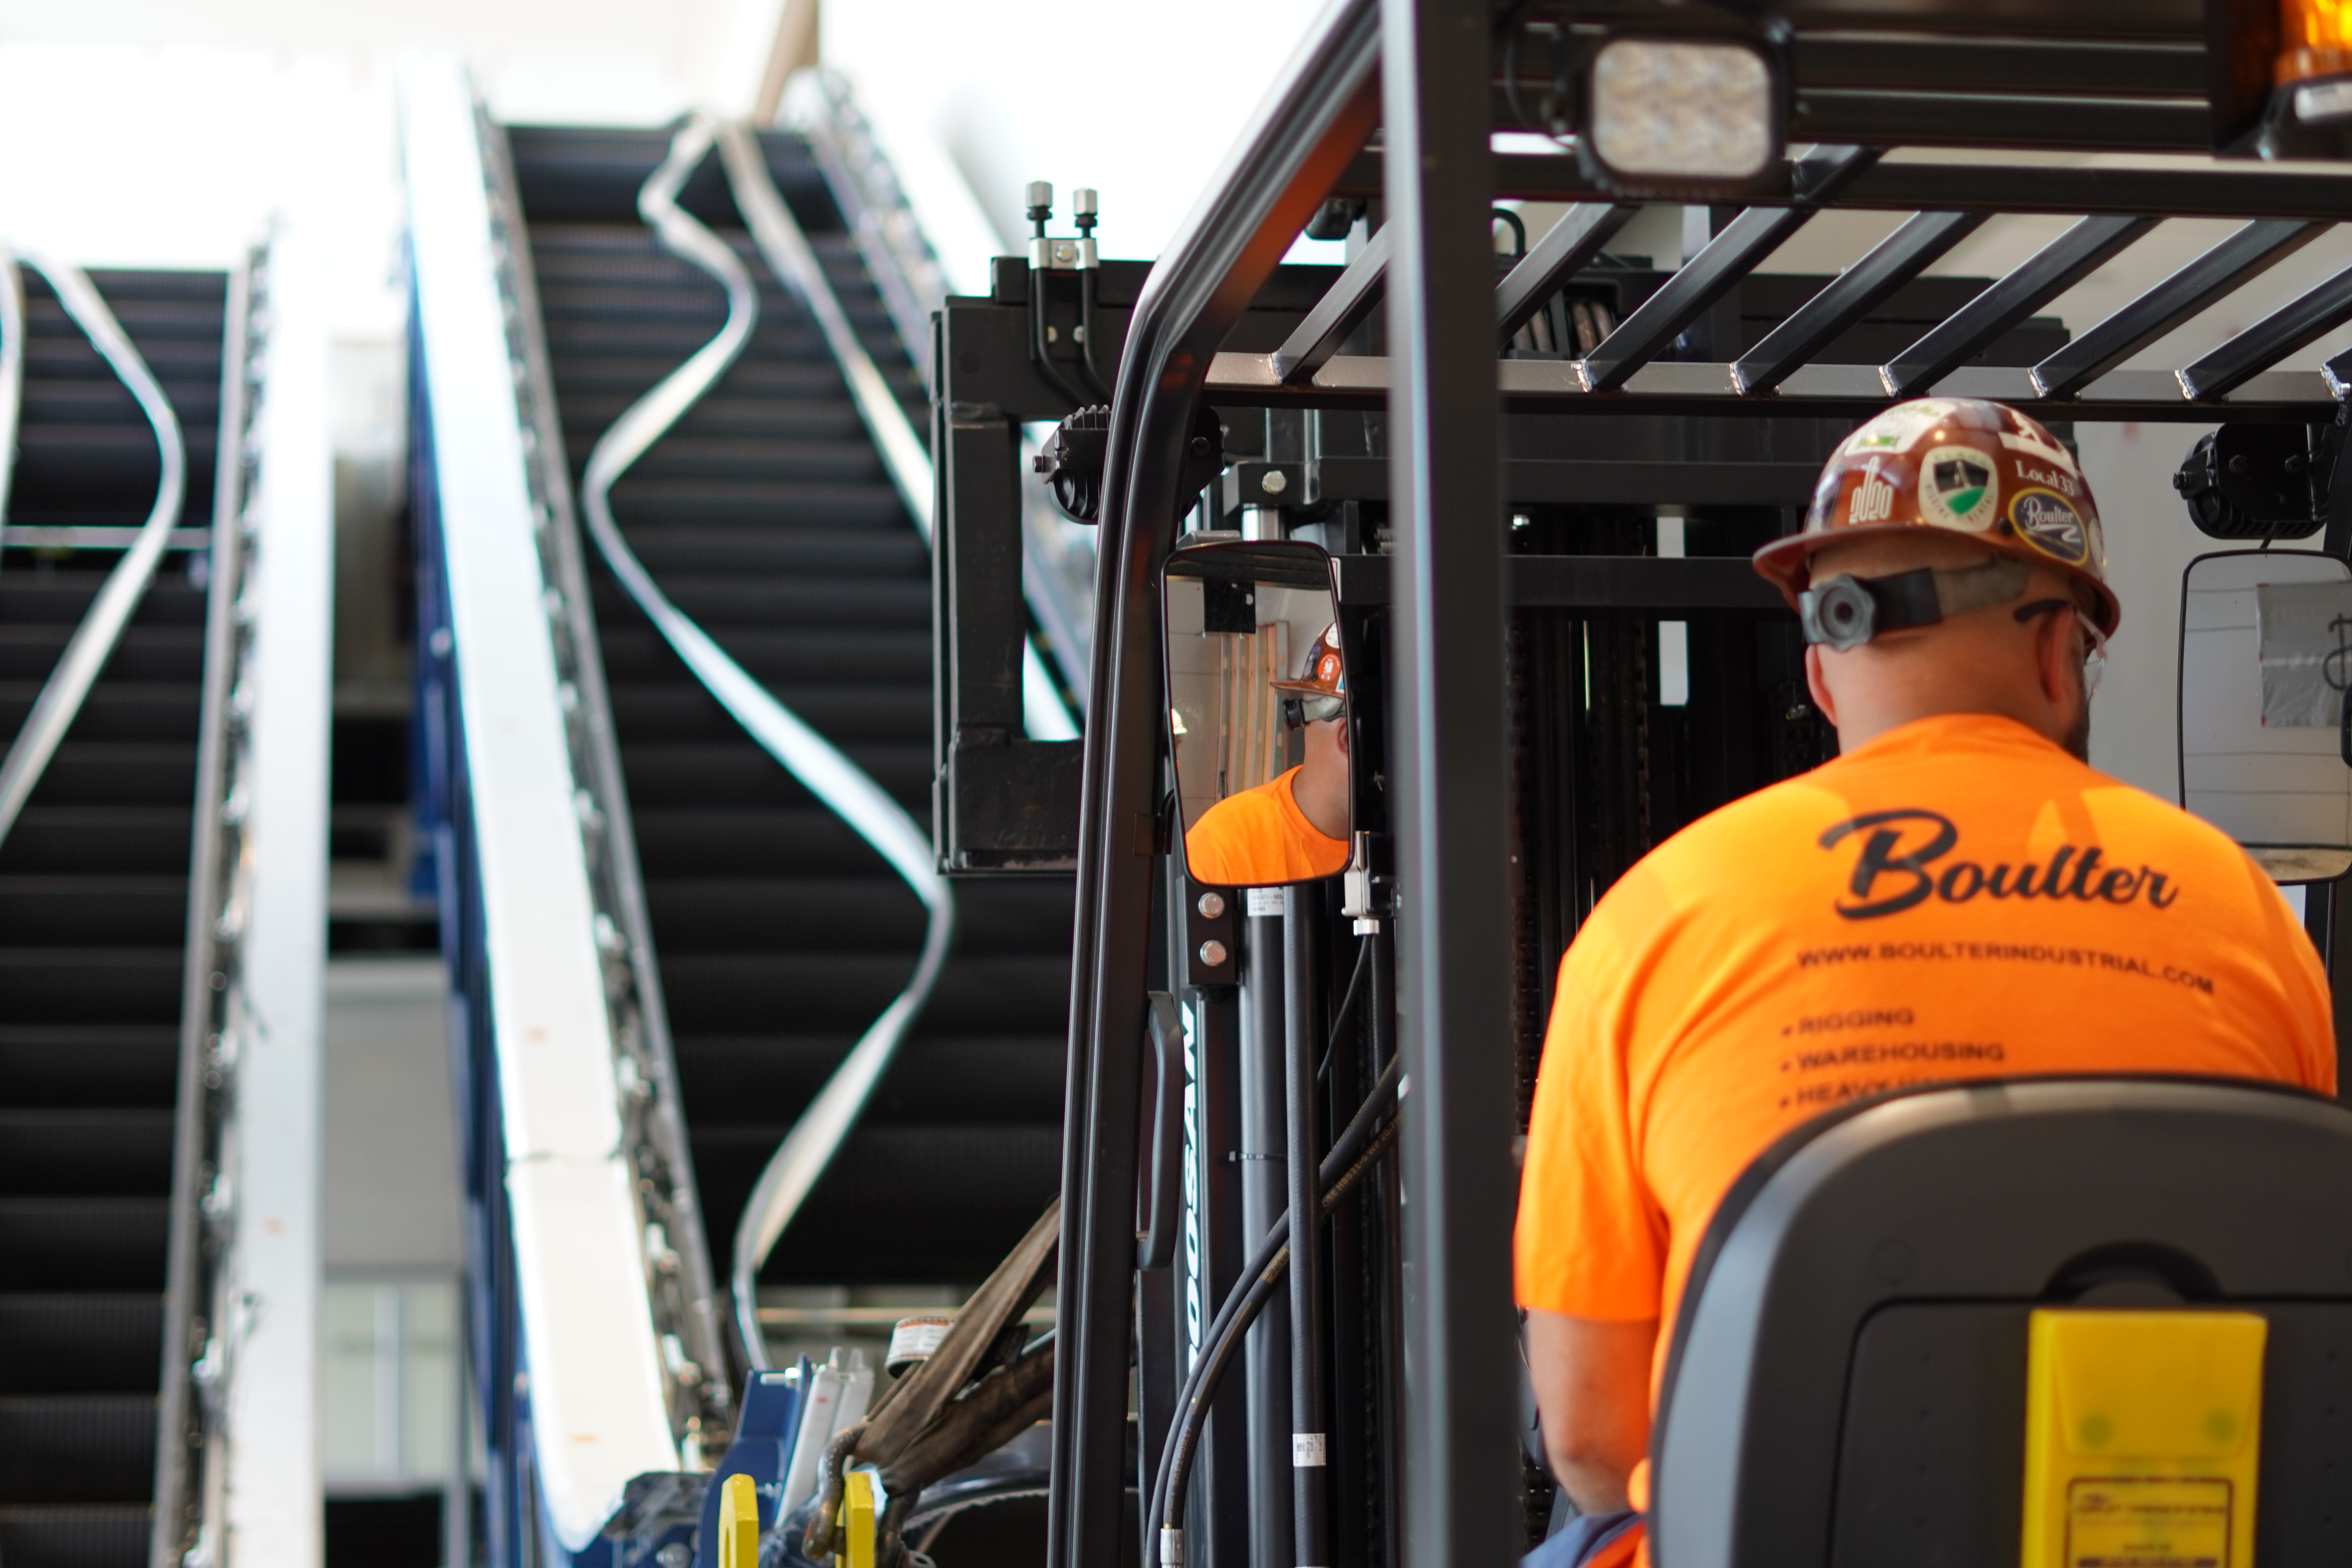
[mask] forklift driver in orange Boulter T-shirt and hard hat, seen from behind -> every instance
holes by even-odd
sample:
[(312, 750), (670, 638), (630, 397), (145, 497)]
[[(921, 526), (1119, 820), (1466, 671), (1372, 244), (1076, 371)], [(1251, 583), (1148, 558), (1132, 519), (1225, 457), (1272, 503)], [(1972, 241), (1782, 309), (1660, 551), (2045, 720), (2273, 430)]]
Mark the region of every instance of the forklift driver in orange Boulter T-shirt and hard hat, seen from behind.
[(1517, 1293), (1552, 1474), (1543, 1568), (1646, 1559), (1661, 1326), (1731, 1182), (1891, 1088), (2020, 1074), (2336, 1088), (2326, 973), (2225, 835), (2089, 766), (2119, 604), (2091, 487), (1992, 402), (1907, 402), (1757, 552), (1839, 759), (1715, 811), (1559, 966)]

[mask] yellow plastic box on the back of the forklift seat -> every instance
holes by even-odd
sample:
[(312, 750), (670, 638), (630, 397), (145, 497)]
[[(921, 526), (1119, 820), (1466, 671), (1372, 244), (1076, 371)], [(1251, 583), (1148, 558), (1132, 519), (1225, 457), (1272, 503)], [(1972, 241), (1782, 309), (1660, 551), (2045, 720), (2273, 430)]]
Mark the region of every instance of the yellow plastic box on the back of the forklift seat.
[(2253, 1312), (2037, 1309), (2023, 1568), (2251, 1568), (2267, 1335)]

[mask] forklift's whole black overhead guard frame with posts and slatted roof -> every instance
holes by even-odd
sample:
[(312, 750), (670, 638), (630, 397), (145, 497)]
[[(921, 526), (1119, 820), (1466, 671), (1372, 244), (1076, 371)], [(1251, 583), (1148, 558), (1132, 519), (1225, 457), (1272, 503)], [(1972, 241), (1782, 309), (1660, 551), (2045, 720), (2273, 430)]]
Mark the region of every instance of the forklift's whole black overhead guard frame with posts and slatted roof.
[[(1644, 9), (1616, 5), (1609, 19)], [(1867, 24), (1867, 40), (1837, 31), (1863, 26), (1839, 21), (1846, 12), (1778, 9), (1795, 19), (1797, 94), (1788, 134), (1792, 143), (1823, 146), (1792, 150), (1776, 181), (1719, 221), (1696, 256), (1583, 353), (1498, 360), (1498, 341), (1526, 320), (1529, 301), (1588, 266), (1637, 200), (1597, 186), (1576, 158), (1491, 150), (1496, 103), (1508, 96), (1496, 89), (1496, 21), (1519, 19), (1526, 5), (1334, 0), (1136, 299), (1110, 414), (1082, 743), (1049, 1568), (1098, 1568), (1131, 1549), (1120, 1530), (1136, 1342), (1138, 1041), (1155, 863), (1167, 849), (1160, 569), (1190, 505), (1183, 470), (1202, 404), (1385, 411), (1385, 473), (1364, 477), (1376, 489), (1352, 494), (1388, 501), (1392, 559), (1343, 559), (1341, 583), (1345, 597), (1348, 583), (1369, 583), (1385, 567), (1411, 1192), (1402, 1410), (1409, 1462), (1392, 1481), (1404, 1488), (1404, 1556), (1416, 1568), (1494, 1566), (1522, 1547), (1510, 1500), (1512, 1081), (1501, 1048), (1512, 985), (1498, 809), (1508, 611), (1778, 614), (1750, 602), (1752, 585), (1731, 583), (1719, 571), (1729, 567), (1724, 559), (1524, 557), (1505, 571), (1498, 536), (1505, 501), (1526, 494), (1526, 484), (1552, 484), (1573, 489), (1545, 491), (1550, 501), (1710, 503), (1738, 489), (1792, 505), (1802, 503), (1811, 473), (1785, 461), (1795, 456), (1785, 451), (1766, 454), (1780, 458), (1769, 463), (1632, 463), (1592, 454), (1536, 461), (1548, 454), (1503, 451), (1505, 414), (1851, 425), (1936, 388), (2004, 400), (2058, 423), (2303, 423), (2314, 468), (2321, 456), (2333, 468), (2333, 487), (2317, 475), (2312, 484), (2321, 520), (2352, 482), (2352, 468), (2336, 463), (2338, 388), (2352, 386), (2352, 353), (2319, 371), (2272, 369), (2352, 320), (2352, 268), (2281, 299), (2192, 364), (2126, 369), (2197, 310), (2352, 216), (2352, 172), (1882, 158), (1896, 146), (2129, 153), (2234, 146), (2260, 113), (2260, 92), (2244, 87), (2249, 78), (2237, 61), (2216, 59), (2227, 52), (2209, 47), (2206, 19), (2194, 7), (2119, 19), (2093, 0), (2067, 0), (2002, 19), (2018, 31), (2006, 38), (1987, 35), (1990, 21), (1957, 9), (1903, 12), (1893, 21), (1889, 9)], [(2216, 0), (2209, 9), (2223, 16), (2244, 7)], [(2126, 21), (2133, 33), (2119, 31)], [(1376, 127), (1381, 146), (1367, 148)], [(1279, 350), (1230, 350), (1228, 331), (1331, 197), (1378, 200), (1383, 242), (1338, 275), (1329, 303)], [(1573, 205), (1557, 240), (1538, 240), (1522, 270), (1501, 280), (1489, 233), (1494, 197)], [(1788, 310), (1757, 343), (1708, 353), (1710, 324), (1724, 317), (1726, 299), (1823, 207), (1898, 212), (1912, 221)], [(1905, 348), (1867, 364), (1816, 362), (1999, 214), (2065, 214), (2077, 223)], [(2037, 350), (2027, 364), (1987, 355), (2020, 341), (2013, 331), (2037, 310), (2173, 216), (2227, 216), (2246, 228), (2058, 353)], [(1334, 353), (1348, 327), (1364, 320), (1376, 287), (1385, 287), (1388, 355)], [(1731, 327), (1738, 329), (1736, 310)], [(1524, 423), (1512, 421), (1515, 442)], [(1818, 463), (1818, 454), (1809, 461)], [(1715, 477), (1698, 468), (1712, 468)], [(1341, 465), (1329, 463), (1327, 473)], [(1705, 491), (1708, 484), (1722, 494)], [(1496, 531), (1477, 527), (1479, 517)], [(2352, 505), (2333, 508), (2328, 550), (2352, 545), (2347, 524)], [(953, 515), (943, 529), (953, 538)]]

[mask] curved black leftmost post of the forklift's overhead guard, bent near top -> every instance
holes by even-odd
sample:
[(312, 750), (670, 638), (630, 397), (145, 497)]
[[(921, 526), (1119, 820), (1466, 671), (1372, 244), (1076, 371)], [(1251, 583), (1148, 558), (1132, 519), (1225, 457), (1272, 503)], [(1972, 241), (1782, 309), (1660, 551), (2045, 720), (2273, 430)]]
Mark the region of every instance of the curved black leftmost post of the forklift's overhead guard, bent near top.
[[(1484, 28), (1477, 28), (1484, 40)], [(1214, 188), (1169, 242), (1129, 317), (1103, 473), (1094, 649), (1073, 922), (1063, 1114), (1061, 1352), (1047, 1568), (1122, 1554), (1134, 1293), (1136, 1030), (1152, 950), (1155, 860), (1134, 825), (1160, 809), (1157, 571), (1216, 346), (1378, 122), (1381, 7), (1336, 0), (1277, 78)], [(1486, 228), (1479, 226), (1484, 235)], [(1491, 242), (1489, 242), (1491, 256)], [(1491, 259), (1486, 277), (1491, 280)], [(1491, 284), (1479, 350), (1491, 350)]]

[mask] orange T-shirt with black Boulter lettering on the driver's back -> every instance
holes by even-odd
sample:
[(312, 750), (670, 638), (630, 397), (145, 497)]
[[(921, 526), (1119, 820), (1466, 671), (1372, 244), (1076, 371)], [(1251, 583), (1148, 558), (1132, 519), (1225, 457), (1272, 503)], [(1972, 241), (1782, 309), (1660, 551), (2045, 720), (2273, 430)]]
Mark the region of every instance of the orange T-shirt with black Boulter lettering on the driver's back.
[(2225, 835), (2023, 724), (1905, 724), (1693, 823), (1559, 964), (1517, 1293), (1658, 1319), (1715, 1206), (1856, 1095), (2037, 1072), (2336, 1088), (2326, 973)]

